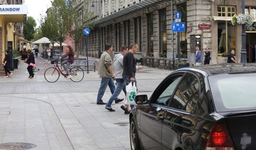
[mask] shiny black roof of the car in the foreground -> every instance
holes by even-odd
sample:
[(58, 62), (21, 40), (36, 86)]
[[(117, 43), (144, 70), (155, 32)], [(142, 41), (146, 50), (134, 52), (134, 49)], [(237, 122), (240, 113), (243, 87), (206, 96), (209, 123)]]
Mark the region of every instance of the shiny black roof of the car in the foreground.
[[(192, 69), (193, 68), (193, 69)], [(238, 73), (238, 72), (256, 72), (255, 63), (232, 63), (232, 64), (210, 64), (201, 66), (191, 66), (188, 68), (182, 68), (178, 70), (194, 70), (199, 69), (206, 72), (209, 76), (225, 73)]]

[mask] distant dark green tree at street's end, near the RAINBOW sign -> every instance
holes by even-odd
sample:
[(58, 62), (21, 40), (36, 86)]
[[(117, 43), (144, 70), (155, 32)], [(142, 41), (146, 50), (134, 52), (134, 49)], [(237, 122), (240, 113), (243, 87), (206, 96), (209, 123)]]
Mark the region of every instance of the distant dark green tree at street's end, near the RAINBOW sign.
[(36, 27), (36, 20), (33, 17), (28, 16), (28, 20), (26, 21), (26, 23), (24, 23), (24, 26), (23, 26), (24, 39), (28, 41), (31, 41), (32, 39), (34, 39), (35, 27)]

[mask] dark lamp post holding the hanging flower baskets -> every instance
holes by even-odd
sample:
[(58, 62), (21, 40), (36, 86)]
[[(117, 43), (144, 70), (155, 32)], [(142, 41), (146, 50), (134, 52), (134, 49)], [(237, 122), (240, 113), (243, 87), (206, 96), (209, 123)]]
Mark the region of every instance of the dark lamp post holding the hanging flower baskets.
[[(244, 14), (244, 0), (242, 0), (242, 14)], [(241, 50), (241, 63), (247, 63), (246, 59), (246, 34), (245, 34), (245, 25), (242, 25), (242, 50)]]

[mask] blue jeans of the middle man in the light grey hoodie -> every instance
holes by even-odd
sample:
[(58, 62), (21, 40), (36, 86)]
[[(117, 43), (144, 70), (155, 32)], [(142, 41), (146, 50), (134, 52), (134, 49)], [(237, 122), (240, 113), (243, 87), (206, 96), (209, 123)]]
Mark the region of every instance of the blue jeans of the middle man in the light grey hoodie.
[(124, 79), (116, 79), (116, 90), (111, 95), (111, 97), (108, 99), (108, 102), (106, 104), (105, 108), (111, 109), (111, 104), (114, 101), (116, 97), (121, 93), (121, 91), (124, 91), (124, 94), (126, 95), (125, 85), (124, 85)]

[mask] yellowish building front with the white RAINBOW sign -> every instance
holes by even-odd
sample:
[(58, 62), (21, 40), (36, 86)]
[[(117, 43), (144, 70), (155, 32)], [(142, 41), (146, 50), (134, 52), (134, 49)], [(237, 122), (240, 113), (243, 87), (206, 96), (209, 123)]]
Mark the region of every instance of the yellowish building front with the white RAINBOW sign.
[[(0, 5), (0, 60), (3, 61), (7, 49), (18, 49), (23, 42), (23, 23), (26, 22), (28, 8), (24, 0), (3, 0)], [(2, 67), (0, 63), (0, 68)], [(0, 70), (2, 74), (4, 70)]]

